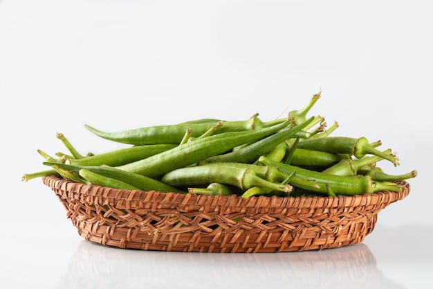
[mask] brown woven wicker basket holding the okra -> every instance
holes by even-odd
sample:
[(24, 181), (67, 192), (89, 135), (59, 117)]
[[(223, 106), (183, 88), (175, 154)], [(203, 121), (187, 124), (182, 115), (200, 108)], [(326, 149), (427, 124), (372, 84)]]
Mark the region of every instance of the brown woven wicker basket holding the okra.
[(122, 248), (183, 252), (289, 252), (362, 242), (378, 212), (402, 200), (381, 192), (331, 197), (251, 197), (128, 191), (43, 178), (78, 234)]

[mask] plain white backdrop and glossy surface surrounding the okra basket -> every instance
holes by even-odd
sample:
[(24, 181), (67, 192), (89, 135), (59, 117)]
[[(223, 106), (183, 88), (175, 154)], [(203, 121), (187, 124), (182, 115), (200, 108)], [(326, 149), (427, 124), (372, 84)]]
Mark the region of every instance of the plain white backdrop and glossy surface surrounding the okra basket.
[[(0, 0), (0, 288), (432, 288), (428, 1)], [(303, 107), (418, 170), (364, 243), (290, 254), (135, 252), (88, 243), (24, 173), (36, 150), (121, 130)]]

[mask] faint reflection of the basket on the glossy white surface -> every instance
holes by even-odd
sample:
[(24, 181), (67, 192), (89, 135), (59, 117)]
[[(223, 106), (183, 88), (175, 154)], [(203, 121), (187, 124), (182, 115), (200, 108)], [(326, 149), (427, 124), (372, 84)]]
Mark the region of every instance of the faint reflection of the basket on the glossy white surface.
[[(266, 287), (264, 287), (266, 286)], [(322, 251), (194, 253), (83, 240), (57, 288), (400, 288), (363, 243)]]

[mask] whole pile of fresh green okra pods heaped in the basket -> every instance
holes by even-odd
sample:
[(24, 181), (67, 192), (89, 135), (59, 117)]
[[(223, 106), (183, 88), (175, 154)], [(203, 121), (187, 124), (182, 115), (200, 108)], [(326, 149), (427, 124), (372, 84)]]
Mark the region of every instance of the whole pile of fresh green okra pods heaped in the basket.
[(333, 137), (338, 123), (326, 128), (321, 116), (307, 117), (320, 98), (315, 94), (302, 110), (288, 117), (261, 121), (199, 119), (122, 132), (85, 127), (98, 137), (126, 148), (81, 155), (57, 133), (68, 153), (51, 157), (42, 150), (46, 170), (28, 173), (24, 181), (57, 175), (73, 182), (114, 189), (208, 195), (312, 196), (402, 191), (403, 175), (385, 173), (376, 164), (398, 158), (380, 141)]

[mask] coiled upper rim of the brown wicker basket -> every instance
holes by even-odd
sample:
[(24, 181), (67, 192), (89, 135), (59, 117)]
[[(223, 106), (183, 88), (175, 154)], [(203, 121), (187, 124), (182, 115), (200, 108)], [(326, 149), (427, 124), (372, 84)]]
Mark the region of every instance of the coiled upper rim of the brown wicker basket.
[(403, 192), (383, 191), (377, 193), (365, 193), (362, 195), (338, 195), (331, 196), (313, 196), (313, 197), (278, 197), (278, 196), (251, 196), (243, 199), (239, 195), (194, 195), (190, 193), (163, 193), (160, 191), (140, 191), (127, 189), (113, 189), (108, 187), (97, 186), (94, 184), (82, 184), (68, 181), (56, 175), (42, 177), (42, 182), (50, 187), (53, 191), (60, 190), (73, 193), (74, 198), (98, 199), (110, 198), (126, 202), (128, 207), (135, 207), (133, 204), (138, 203), (158, 203), (165, 204), (164, 207), (175, 205), (181, 207), (187, 205), (191, 207), (241, 207), (241, 208), (344, 208), (344, 207), (365, 207), (382, 204), (386, 207), (388, 204), (403, 200), (409, 195), (410, 185), (407, 181), (400, 182), (405, 185)]

